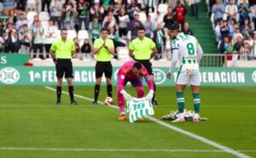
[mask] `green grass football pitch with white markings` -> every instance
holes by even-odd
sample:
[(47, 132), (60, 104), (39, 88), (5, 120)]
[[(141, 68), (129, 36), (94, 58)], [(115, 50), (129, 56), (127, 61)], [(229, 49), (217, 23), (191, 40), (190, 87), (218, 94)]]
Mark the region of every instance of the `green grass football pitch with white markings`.
[[(158, 87), (155, 115), (135, 123), (118, 121), (116, 108), (92, 105), (94, 87), (74, 88), (78, 106), (63, 92), (55, 105), (52, 87), (0, 87), (0, 157), (256, 157), (255, 87), (201, 87), (208, 121), (199, 123), (159, 120), (177, 110), (174, 87)], [(102, 86), (99, 100), (106, 96)], [(193, 110), (190, 87), (185, 104)]]

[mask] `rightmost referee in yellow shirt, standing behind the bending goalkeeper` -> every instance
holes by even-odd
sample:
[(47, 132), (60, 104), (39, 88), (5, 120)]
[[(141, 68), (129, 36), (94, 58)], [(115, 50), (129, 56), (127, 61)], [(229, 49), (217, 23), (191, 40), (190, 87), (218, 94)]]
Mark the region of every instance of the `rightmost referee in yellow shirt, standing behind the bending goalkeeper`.
[[(150, 59), (157, 54), (157, 48), (155, 47), (155, 43), (148, 37), (145, 37), (145, 28), (139, 27), (137, 31), (137, 38), (131, 41), (129, 46), (129, 55), (132, 59), (141, 62), (148, 71), (152, 82), (154, 82), (154, 74), (152, 70), (152, 64), (150, 63)], [(153, 53), (151, 54), (151, 51)], [(154, 96), (155, 96), (155, 82), (154, 82)], [(154, 98), (151, 100), (152, 104), (159, 105), (159, 103)]]

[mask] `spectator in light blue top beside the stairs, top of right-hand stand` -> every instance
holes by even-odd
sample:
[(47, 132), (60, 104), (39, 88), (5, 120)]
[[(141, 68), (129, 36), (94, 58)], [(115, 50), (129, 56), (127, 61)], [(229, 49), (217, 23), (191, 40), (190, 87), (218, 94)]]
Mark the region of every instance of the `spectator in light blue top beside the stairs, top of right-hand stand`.
[(216, 0), (216, 3), (212, 6), (212, 14), (214, 14), (215, 25), (217, 25), (219, 19), (223, 19), (224, 12), (224, 4), (221, 3), (221, 0)]

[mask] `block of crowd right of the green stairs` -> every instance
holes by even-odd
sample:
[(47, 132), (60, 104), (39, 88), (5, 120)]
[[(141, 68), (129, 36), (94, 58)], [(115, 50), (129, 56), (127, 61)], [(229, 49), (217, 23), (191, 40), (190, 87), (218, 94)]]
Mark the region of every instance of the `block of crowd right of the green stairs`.
[(232, 60), (256, 59), (256, 2), (215, 0), (209, 8), (219, 53), (232, 54)]

